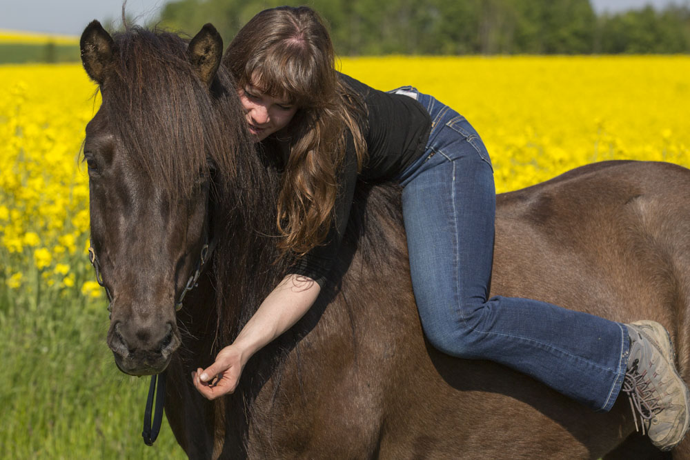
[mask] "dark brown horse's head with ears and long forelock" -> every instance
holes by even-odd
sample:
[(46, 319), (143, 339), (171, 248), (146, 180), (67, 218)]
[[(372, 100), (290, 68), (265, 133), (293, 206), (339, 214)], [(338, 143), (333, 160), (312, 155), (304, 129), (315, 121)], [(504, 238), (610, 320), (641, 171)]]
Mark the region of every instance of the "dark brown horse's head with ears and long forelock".
[(189, 43), (138, 28), (111, 37), (97, 21), (81, 36), (103, 99), (83, 152), (90, 241), (112, 296), (108, 346), (128, 374), (161, 372), (181, 343), (175, 306), (213, 232), (219, 151), (233, 148), (221, 138), (242, 135), (219, 124), (234, 93), (218, 81), (221, 55), (210, 25)]

